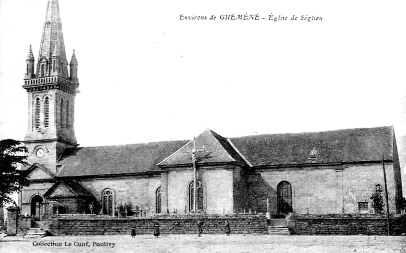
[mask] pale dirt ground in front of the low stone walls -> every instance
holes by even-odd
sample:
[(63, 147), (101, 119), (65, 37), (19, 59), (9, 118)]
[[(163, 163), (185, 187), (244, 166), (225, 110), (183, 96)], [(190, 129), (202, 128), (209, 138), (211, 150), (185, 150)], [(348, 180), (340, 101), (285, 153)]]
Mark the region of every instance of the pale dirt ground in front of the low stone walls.
[[(152, 235), (0, 238), (0, 252), (399, 252), (404, 236)], [(59, 245), (58, 245), (59, 244)], [(60, 245), (61, 244), (61, 245)]]

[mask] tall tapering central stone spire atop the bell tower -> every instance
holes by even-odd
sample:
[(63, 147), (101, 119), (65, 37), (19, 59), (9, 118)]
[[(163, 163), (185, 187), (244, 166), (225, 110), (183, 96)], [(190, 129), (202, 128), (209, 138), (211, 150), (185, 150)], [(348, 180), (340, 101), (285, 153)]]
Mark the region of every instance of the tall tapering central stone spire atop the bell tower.
[[(48, 0), (44, 28), (42, 31), (40, 54), (38, 56), (37, 75), (40, 73), (41, 64), (44, 64), (41, 63), (44, 62), (43, 58), (51, 62), (51, 57), (55, 50), (58, 51), (61, 63), (61, 70), (58, 72), (58, 75), (67, 78), (67, 60), (63, 41), (62, 22), (59, 15), (59, 5), (57, 0)], [(45, 74), (45, 76), (48, 76), (51, 68), (45, 66), (45, 69), (48, 69)]]

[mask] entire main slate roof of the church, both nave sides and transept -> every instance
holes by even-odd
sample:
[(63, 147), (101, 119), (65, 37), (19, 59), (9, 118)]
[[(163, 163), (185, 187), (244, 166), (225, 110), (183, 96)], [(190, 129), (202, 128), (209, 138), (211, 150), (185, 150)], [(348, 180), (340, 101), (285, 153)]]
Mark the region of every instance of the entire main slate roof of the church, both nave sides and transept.
[[(230, 143), (231, 141), (231, 143)], [(208, 129), (196, 146), (212, 152), (200, 163), (235, 162), (253, 167), (392, 160), (392, 127), (356, 128), (324, 132), (263, 134), (224, 138)], [(235, 150), (233, 146), (238, 150)], [(91, 176), (159, 172), (161, 167), (191, 164), (190, 140), (122, 146), (76, 148), (60, 159), (58, 176)], [(309, 159), (313, 148), (316, 159)], [(239, 152), (244, 156), (240, 156)], [(197, 157), (204, 156), (200, 153)]]

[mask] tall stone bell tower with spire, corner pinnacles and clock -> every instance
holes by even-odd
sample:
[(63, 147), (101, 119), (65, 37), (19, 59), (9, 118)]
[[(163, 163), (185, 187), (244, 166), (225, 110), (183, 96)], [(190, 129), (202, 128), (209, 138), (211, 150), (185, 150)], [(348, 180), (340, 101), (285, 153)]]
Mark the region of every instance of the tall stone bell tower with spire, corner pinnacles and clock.
[(29, 47), (23, 88), (28, 93), (28, 129), (24, 143), (27, 162), (57, 173), (64, 150), (78, 146), (75, 131), (75, 96), (79, 92), (75, 51), (66, 60), (57, 0), (48, 0), (37, 66)]

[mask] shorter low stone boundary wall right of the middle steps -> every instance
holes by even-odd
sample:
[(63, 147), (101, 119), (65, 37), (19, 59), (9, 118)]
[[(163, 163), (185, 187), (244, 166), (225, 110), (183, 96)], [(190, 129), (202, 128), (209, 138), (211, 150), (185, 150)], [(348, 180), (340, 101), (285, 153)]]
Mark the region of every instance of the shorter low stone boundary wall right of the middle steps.
[[(390, 215), (390, 234), (406, 232), (406, 215)], [(386, 214), (296, 214), (288, 221), (295, 234), (387, 235)]]

